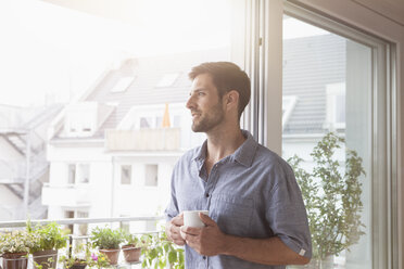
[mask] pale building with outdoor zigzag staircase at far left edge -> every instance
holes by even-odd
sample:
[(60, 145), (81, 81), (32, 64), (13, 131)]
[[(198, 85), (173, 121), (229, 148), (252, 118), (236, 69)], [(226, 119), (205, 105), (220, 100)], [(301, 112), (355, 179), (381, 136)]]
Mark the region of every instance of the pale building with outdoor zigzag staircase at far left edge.
[(61, 108), (0, 105), (0, 220), (47, 217), (40, 197), (49, 174), (46, 133)]

